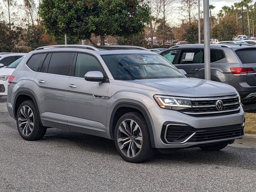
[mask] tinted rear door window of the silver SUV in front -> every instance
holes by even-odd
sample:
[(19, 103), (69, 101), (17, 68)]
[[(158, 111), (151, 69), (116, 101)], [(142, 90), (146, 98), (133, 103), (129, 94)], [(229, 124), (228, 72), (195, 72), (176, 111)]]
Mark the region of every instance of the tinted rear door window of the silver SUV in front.
[(68, 70), (73, 61), (73, 53), (52, 53), (47, 73), (68, 75)]

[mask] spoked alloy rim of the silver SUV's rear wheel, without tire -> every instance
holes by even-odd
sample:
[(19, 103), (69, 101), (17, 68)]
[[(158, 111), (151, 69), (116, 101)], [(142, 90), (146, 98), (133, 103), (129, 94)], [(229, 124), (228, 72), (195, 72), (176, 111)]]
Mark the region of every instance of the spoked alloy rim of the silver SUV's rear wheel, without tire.
[(24, 136), (29, 136), (34, 128), (34, 114), (29, 106), (23, 106), (18, 115), (18, 126)]

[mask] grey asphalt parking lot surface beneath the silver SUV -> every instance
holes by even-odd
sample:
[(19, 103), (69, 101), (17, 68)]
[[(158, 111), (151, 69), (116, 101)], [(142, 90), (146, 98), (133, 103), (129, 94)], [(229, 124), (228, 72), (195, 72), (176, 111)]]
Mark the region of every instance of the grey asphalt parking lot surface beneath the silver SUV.
[(0, 99), (0, 191), (243, 191), (256, 190), (256, 148), (199, 148), (131, 164), (105, 138), (48, 129), (22, 140)]

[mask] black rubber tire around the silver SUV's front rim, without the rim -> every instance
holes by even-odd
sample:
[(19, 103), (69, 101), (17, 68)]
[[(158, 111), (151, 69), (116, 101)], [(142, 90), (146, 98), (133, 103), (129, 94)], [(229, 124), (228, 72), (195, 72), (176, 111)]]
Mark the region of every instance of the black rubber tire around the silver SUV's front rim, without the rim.
[[(134, 157), (128, 157), (124, 155), (124, 153), (120, 150), (120, 147), (118, 144), (118, 128), (124, 120), (133, 120), (134, 122), (136, 122), (142, 134), (142, 144), (141, 144), (140, 151)], [(150, 134), (149, 134), (146, 120), (138, 112), (129, 112), (119, 118), (118, 122), (116, 123), (114, 140), (115, 140), (116, 150), (118, 151), (118, 154), (127, 162), (141, 163), (149, 160), (154, 156), (155, 148), (152, 148), (150, 143)]]

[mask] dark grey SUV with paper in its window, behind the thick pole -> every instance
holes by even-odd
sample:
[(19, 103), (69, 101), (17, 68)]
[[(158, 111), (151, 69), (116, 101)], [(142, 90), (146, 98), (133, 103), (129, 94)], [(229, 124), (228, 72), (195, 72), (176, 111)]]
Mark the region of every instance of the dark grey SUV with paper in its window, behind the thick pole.
[[(174, 46), (160, 53), (188, 77), (204, 79), (204, 46)], [(256, 102), (256, 47), (210, 45), (211, 80), (234, 86), (242, 103)]]

